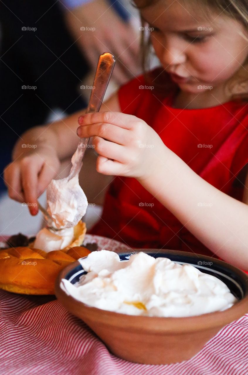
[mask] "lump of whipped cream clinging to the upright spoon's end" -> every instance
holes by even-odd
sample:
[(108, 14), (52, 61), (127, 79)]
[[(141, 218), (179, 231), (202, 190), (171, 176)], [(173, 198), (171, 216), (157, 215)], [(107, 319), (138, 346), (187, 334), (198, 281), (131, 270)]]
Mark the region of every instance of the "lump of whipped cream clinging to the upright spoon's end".
[(52, 180), (47, 189), (47, 211), (55, 228), (72, 228), (86, 213), (88, 202), (78, 182), (78, 174)]

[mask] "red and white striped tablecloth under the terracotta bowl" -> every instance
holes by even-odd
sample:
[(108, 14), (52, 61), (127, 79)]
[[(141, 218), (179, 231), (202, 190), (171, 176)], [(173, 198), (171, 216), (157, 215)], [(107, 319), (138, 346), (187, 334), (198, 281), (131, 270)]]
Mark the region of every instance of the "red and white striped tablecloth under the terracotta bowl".
[(248, 314), (224, 327), (191, 360), (139, 365), (111, 354), (49, 296), (0, 291), (1, 375), (247, 375)]

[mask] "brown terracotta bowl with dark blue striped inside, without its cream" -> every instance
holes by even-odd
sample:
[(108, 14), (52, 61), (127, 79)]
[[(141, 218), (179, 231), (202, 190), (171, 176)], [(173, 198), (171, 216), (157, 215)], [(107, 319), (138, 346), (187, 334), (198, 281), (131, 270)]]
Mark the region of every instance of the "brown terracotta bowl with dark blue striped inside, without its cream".
[(225, 325), (242, 317), (248, 311), (248, 276), (223, 261), (189, 252), (157, 249), (137, 249), (131, 253), (119, 252), (121, 260), (143, 251), (158, 258), (197, 267), (201, 272), (221, 279), (239, 300), (231, 308), (185, 318), (161, 318), (119, 314), (79, 302), (61, 288), (61, 279), (72, 284), (86, 273), (77, 261), (63, 269), (56, 281), (55, 293), (60, 303), (71, 314), (82, 319), (108, 349), (127, 361), (162, 365), (188, 360)]

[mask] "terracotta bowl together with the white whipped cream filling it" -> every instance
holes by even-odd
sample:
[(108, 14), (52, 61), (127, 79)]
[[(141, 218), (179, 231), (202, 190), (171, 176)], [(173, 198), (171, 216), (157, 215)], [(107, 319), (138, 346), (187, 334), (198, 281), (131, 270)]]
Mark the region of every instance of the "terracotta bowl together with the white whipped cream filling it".
[(149, 365), (182, 362), (248, 311), (248, 279), (182, 251), (92, 252), (60, 273), (58, 300), (111, 353)]

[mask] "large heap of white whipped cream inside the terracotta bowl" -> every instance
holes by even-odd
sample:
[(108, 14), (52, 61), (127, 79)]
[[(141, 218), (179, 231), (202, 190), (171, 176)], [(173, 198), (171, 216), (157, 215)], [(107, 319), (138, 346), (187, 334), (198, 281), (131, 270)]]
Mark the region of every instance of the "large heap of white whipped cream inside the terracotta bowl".
[(222, 311), (237, 302), (215, 276), (143, 252), (120, 261), (111, 251), (79, 259), (88, 273), (77, 284), (60, 287), (75, 299), (99, 309), (130, 315), (190, 317)]

